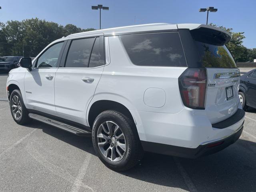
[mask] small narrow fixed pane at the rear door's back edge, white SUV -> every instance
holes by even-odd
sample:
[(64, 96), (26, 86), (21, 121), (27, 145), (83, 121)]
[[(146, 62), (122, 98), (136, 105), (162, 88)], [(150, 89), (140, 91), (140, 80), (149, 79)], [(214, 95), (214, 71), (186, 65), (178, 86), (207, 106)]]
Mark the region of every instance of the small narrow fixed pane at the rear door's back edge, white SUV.
[(90, 57), (89, 67), (98, 67), (104, 65), (104, 43), (103, 37), (97, 37), (95, 39), (92, 54)]

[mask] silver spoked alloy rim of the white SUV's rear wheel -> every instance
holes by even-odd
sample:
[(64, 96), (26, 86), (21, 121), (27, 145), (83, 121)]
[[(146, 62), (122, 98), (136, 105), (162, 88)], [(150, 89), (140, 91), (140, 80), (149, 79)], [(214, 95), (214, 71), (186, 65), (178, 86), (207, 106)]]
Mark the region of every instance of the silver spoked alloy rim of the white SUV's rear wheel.
[(126, 140), (122, 128), (113, 121), (103, 122), (97, 132), (101, 153), (112, 162), (118, 162), (126, 153)]

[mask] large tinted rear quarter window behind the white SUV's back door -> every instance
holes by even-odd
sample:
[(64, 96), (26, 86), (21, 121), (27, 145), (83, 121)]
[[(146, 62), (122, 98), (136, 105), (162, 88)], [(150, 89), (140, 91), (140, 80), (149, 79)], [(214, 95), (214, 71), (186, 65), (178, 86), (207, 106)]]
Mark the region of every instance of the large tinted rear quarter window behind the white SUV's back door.
[(120, 36), (130, 60), (140, 66), (187, 66), (178, 32)]

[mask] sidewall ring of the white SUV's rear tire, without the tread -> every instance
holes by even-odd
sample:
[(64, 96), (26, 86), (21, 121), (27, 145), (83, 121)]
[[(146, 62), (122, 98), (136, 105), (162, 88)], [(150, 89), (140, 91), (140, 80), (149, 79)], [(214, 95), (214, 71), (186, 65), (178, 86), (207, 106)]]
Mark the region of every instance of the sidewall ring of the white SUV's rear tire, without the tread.
[[(98, 141), (97, 141), (97, 132), (99, 129), (99, 126), (105, 122), (105, 121), (113, 121), (115, 122), (118, 126), (120, 126), (122, 128), (122, 132), (124, 133), (124, 138), (126, 140), (126, 152), (124, 157), (122, 158), (122, 160), (118, 161), (118, 162), (112, 162), (110, 160), (108, 160), (107, 158), (105, 158), (102, 154), (102, 152), (100, 151), (100, 148), (98, 147)], [(128, 125), (130, 126), (130, 125)], [(129, 132), (129, 128), (127, 127), (127, 124), (125, 124), (118, 115), (116, 114), (110, 114), (110, 113), (105, 113), (105, 114), (100, 114), (96, 120), (94, 121), (93, 124), (93, 129), (92, 129), (92, 142), (93, 142), (93, 146), (94, 146), (94, 150), (96, 151), (98, 157), (100, 158), (100, 160), (107, 166), (110, 167), (122, 167), (125, 166), (128, 162), (128, 160), (130, 159), (131, 156), (131, 152), (132, 152), (132, 138)]]

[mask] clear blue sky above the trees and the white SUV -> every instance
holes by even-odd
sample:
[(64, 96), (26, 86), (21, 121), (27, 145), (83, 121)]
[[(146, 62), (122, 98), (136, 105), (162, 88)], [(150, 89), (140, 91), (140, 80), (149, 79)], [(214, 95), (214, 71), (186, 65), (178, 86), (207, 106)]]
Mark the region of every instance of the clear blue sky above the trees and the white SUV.
[(99, 28), (99, 11), (92, 5), (109, 6), (102, 11), (102, 28), (136, 24), (206, 23), (206, 12), (199, 8), (214, 6), (209, 22), (244, 32), (244, 46), (256, 48), (256, 0), (2, 0), (0, 22), (40, 18), (81, 28)]

